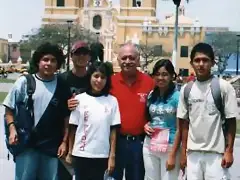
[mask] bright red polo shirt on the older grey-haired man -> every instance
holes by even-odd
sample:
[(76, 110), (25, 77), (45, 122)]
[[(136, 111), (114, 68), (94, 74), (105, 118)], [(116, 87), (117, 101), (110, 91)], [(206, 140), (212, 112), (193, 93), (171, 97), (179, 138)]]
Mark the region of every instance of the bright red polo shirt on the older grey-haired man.
[(124, 82), (122, 73), (112, 77), (111, 94), (118, 100), (121, 114), (121, 134), (140, 135), (146, 124), (146, 100), (154, 88), (152, 78), (137, 72), (137, 80), (129, 86)]

